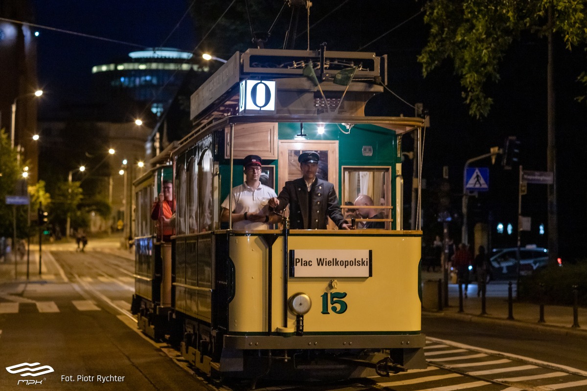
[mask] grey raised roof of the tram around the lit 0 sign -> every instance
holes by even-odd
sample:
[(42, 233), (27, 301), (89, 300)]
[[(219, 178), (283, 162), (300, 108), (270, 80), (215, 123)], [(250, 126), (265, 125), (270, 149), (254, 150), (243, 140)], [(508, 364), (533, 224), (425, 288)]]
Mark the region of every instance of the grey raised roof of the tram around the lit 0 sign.
[[(312, 63), (319, 86), (306, 77), (304, 69)], [(336, 74), (357, 67), (348, 85), (335, 84)], [(306, 69), (307, 70), (307, 69)], [(365, 117), (369, 98), (383, 91), (387, 80), (386, 56), (371, 52), (338, 52), (326, 50), (248, 49), (235, 53), (220, 69), (192, 94), (190, 118), (195, 129), (222, 117), (248, 117), (239, 113), (239, 84), (243, 80), (275, 81), (275, 110), (272, 114), (255, 114), (251, 118), (229, 120), (234, 123), (325, 122), (325, 123), (389, 123), (403, 117)], [(325, 102), (326, 99), (326, 102)], [(343, 104), (340, 104), (340, 102)], [(331, 108), (340, 106), (333, 112)], [(271, 118), (266, 116), (270, 115)], [(265, 117), (261, 120), (261, 117)], [(365, 121), (369, 118), (368, 121)], [(379, 118), (379, 119), (375, 119)], [(385, 118), (385, 119), (383, 119)], [(397, 120), (406, 122), (406, 118)], [(408, 128), (419, 118), (414, 118)], [(395, 125), (393, 125), (395, 126)], [(402, 125), (394, 130), (402, 132)]]

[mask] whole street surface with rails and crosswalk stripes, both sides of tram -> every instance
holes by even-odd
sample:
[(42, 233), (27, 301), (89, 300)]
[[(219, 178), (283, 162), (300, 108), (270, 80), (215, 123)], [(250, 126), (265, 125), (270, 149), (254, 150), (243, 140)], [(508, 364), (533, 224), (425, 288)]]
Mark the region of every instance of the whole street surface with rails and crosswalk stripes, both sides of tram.
[[(248, 383), (218, 385), (198, 375), (176, 350), (137, 331), (129, 312), (131, 254), (97, 250), (53, 246), (43, 253), (41, 280), (2, 285), (0, 351), (7, 369), (0, 390), (20, 385), (44, 390), (247, 388)], [(32, 264), (35, 268), (38, 263)], [(587, 386), (585, 338), (551, 333), (548, 327), (518, 328), (429, 313), (423, 315), (422, 329), (426, 369), (338, 383), (260, 380), (257, 389), (578, 391)], [(40, 375), (19, 376), (25, 368)]]

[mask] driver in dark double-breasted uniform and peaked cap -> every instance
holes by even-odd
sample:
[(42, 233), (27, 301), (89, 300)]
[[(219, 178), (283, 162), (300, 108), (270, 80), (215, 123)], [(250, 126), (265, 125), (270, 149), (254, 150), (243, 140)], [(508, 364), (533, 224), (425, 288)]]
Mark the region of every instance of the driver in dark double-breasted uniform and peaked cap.
[(277, 211), (289, 205), (291, 229), (326, 229), (328, 217), (339, 229), (350, 229), (340, 211), (334, 185), (316, 177), (319, 161), (316, 152), (300, 154), (298, 162), (303, 177), (285, 182), (282, 191), (268, 205)]

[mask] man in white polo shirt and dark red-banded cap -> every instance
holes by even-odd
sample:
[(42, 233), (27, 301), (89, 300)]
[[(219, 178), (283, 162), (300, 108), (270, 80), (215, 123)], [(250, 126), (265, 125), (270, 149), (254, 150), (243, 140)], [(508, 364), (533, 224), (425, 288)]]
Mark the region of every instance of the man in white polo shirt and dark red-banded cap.
[[(279, 216), (269, 214), (267, 202), (276, 197), (274, 189), (261, 184), (261, 158), (248, 155), (244, 159), (245, 183), (232, 189), (232, 229), (269, 229)], [(222, 222), (228, 222), (228, 196), (222, 202)]]

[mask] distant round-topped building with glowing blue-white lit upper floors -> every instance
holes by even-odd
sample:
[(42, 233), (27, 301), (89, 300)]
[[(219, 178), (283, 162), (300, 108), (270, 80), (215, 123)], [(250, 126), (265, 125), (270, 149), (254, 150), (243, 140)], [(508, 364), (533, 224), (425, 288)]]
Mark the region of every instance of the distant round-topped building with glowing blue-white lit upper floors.
[[(208, 76), (207, 64), (200, 63), (201, 59), (194, 58), (191, 52), (158, 47), (131, 52), (129, 57), (92, 67), (95, 98), (112, 105), (114, 111), (130, 98), (130, 101), (143, 103), (143, 107), (148, 106), (160, 117), (188, 75), (190, 78)], [(144, 113), (137, 114), (144, 116)]]

